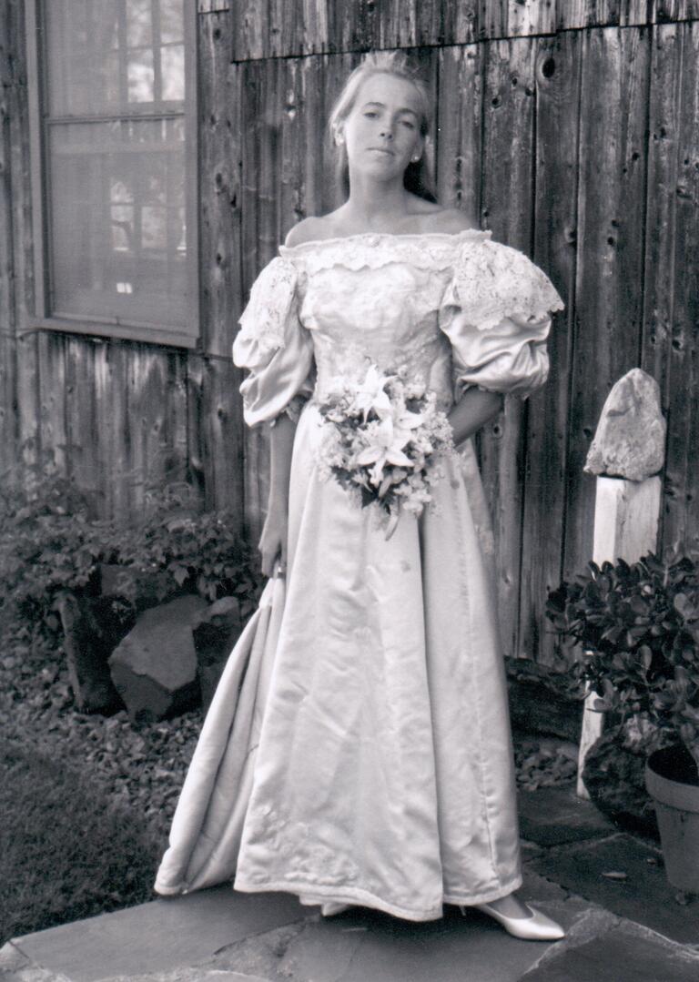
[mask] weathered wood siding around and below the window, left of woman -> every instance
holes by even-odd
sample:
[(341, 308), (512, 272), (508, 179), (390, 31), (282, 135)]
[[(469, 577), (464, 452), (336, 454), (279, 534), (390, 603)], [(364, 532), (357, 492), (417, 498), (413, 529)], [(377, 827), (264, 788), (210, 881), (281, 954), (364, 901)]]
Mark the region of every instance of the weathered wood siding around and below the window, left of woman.
[[(129, 517), (148, 488), (187, 479), (242, 530), (240, 141), (230, 15), (200, 19), (200, 351), (24, 332), (33, 306), (27, 63), (21, 0), (0, 2), (0, 466), (39, 459), (75, 477), (99, 515)], [(220, 24), (218, 23), (220, 21)]]

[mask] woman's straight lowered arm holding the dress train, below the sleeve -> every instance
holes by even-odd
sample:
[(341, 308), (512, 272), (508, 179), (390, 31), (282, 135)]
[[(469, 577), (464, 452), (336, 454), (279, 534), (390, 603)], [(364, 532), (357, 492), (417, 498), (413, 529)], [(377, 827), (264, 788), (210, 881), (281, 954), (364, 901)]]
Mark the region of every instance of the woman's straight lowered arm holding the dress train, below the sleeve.
[(275, 420), (270, 432), (269, 498), (267, 517), (258, 547), (262, 556), (262, 573), (265, 576), (272, 575), (278, 559), (283, 567), (287, 562), (289, 478), (295, 434), (296, 422), (283, 412)]

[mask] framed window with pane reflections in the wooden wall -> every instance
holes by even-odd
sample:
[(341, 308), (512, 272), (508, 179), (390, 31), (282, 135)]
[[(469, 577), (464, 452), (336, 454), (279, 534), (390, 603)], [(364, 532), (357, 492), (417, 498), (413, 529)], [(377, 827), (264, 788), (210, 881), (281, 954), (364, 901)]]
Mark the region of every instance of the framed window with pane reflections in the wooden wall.
[(27, 4), (33, 326), (194, 346), (195, 11)]

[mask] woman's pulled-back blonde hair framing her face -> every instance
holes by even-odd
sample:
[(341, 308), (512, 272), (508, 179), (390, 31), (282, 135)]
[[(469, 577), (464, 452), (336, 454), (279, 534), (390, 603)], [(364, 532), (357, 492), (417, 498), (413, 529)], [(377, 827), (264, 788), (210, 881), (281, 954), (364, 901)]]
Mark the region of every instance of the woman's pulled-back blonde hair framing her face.
[[(370, 51), (349, 75), (349, 79), (345, 82), (345, 86), (338, 96), (331, 110), (330, 119), (328, 120), (330, 138), (336, 154), (335, 176), (339, 187), (346, 196), (349, 194), (348, 151), (344, 142), (338, 144), (337, 137), (342, 124), (348, 118), (354, 106), (357, 92), (362, 82), (365, 82), (372, 75), (380, 74), (395, 75), (397, 78), (405, 79), (415, 86), (419, 95), (420, 135), (423, 138), (427, 138), (430, 136), (432, 129), (429, 90), (420, 76), (419, 69), (410, 63), (403, 51)], [(403, 185), (407, 191), (411, 191), (419, 197), (424, 197), (428, 201), (437, 200), (430, 166), (424, 153), (422, 153), (418, 161), (410, 161), (405, 168)]]

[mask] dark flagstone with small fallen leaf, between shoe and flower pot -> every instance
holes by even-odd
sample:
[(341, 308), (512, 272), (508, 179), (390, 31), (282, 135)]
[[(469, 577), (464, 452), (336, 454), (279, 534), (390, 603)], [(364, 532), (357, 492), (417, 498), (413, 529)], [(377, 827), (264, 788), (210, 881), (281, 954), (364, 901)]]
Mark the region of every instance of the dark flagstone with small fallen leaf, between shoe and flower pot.
[[(680, 944), (699, 945), (699, 900), (677, 903), (659, 851), (632, 836), (619, 833), (605, 840), (552, 849), (534, 856), (528, 866), (620, 917), (644, 924)], [(625, 873), (626, 879), (611, 880), (603, 875), (612, 871)]]

